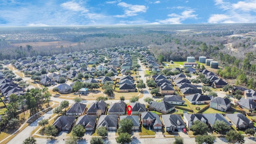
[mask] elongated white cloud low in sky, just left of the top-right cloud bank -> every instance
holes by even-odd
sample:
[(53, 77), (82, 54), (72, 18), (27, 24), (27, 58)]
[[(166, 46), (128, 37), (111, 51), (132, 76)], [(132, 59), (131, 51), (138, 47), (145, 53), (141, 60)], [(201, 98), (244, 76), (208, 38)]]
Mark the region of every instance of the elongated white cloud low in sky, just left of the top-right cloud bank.
[(197, 19), (197, 14), (193, 14), (194, 10), (184, 10), (180, 15), (179, 14), (168, 14), (171, 18), (165, 20), (157, 20), (160, 24), (182, 24), (182, 21), (186, 19)]

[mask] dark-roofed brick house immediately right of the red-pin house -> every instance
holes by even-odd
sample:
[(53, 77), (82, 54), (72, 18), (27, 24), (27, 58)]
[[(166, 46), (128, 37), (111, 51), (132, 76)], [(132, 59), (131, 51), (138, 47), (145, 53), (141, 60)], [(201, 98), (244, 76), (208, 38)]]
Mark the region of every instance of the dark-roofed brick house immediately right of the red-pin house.
[(162, 130), (163, 125), (157, 114), (153, 112), (142, 112), (141, 119), (143, 126), (153, 126), (154, 130)]

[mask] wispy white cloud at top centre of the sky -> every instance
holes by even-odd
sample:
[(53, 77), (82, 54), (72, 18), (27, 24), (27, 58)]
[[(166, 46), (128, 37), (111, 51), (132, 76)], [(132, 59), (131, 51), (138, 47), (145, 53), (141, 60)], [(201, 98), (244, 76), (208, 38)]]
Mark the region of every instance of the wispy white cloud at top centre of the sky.
[(117, 5), (124, 8), (123, 15), (115, 16), (118, 18), (124, 18), (124, 17), (128, 17), (128, 16), (136, 16), (136, 15), (138, 15), (138, 13), (146, 12), (146, 10), (148, 9), (148, 8), (146, 8), (146, 6), (143, 6), (143, 5), (132, 5), (132, 4), (127, 4), (125, 2), (120, 2)]

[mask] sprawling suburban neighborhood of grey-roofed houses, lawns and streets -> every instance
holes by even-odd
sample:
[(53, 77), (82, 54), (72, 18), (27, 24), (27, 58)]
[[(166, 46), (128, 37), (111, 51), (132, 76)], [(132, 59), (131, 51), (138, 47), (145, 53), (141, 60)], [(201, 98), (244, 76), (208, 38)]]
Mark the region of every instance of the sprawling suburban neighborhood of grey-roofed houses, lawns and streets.
[[(48, 112), (51, 114), (44, 113), (49, 116), (43, 114), (40, 118), (48, 123), (33, 127), (36, 131), (29, 133), (63, 140), (70, 138), (73, 129), (79, 125), (86, 131), (82, 138), (98, 136), (98, 128), (105, 127), (108, 139), (115, 139), (118, 129), (122, 128), (120, 122), (125, 119), (132, 121), (130, 134), (138, 140), (147, 137), (195, 138), (193, 125), (196, 121), (208, 126), (209, 131), (205, 134), (217, 138), (222, 133), (216, 131), (216, 122), (224, 122), (244, 135), (246, 129), (255, 128), (254, 90), (230, 86), (208, 71), (213, 68), (207, 66), (208, 70), (196, 66), (186, 68), (188, 65), (171, 68), (171, 63), (159, 62), (146, 47), (120, 50), (122, 52), (106, 53), (107, 49), (102, 49), (101, 52), (14, 60), (4, 65), (0, 72), (1, 108), (6, 110), (14, 102), (14, 95), (24, 97), (22, 101), (17, 100), (19, 114), (26, 111), (32, 116), (40, 113), (39, 109), (50, 108)], [(7, 71), (13, 71), (13, 75), (23, 81), (6, 78)], [(225, 86), (229, 86), (226, 91)], [(243, 90), (239, 100), (232, 96), (236, 90)], [(30, 95), (42, 96), (41, 99), (32, 98), (36, 102), (34, 107), (29, 103)], [(132, 107), (130, 115), (127, 106)], [(37, 124), (40, 120), (34, 122)], [(6, 126), (2, 130), (9, 125)], [(42, 132), (46, 126), (53, 126), (58, 132), (47, 135)], [(17, 140), (19, 134), (8, 143)]]

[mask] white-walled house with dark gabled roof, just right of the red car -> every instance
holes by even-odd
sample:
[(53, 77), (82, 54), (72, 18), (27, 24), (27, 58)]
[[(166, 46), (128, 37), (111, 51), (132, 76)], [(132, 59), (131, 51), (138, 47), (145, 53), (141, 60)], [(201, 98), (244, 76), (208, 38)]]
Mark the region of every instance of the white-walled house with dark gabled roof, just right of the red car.
[(188, 128), (190, 128), (195, 121), (199, 120), (200, 122), (204, 122), (207, 123), (207, 118), (204, 117), (203, 114), (188, 114), (188, 113), (184, 113), (184, 121), (187, 125)]

